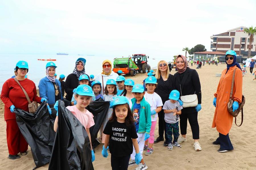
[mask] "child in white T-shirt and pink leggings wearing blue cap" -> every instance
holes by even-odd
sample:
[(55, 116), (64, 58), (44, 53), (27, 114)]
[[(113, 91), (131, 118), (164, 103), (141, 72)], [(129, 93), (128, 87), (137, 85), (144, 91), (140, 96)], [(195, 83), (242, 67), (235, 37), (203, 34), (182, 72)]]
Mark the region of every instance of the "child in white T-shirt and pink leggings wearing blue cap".
[[(151, 155), (153, 153), (155, 125), (158, 117), (157, 113), (162, 110), (163, 102), (161, 97), (154, 92), (157, 86), (157, 79), (154, 76), (149, 76), (146, 78), (145, 83), (146, 83), (147, 91), (144, 95), (144, 98), (150, 104), (151, 129), (150, 129), (150, 137), (148, 140), (145, 141), (143, 150), (147, 150), (145, 155)], [(149, 142), (149, 145), (148, 145), (148, 142)]]

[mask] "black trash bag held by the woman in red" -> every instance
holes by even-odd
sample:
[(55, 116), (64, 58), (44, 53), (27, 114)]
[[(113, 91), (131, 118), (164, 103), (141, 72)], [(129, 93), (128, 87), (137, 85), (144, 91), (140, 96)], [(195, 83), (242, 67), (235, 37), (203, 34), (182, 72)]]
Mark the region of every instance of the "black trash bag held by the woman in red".
[(56, 134), (46, 102), (42, 102), (34, 114), (18, 108), (14, 112), (19, 129), (31, 148), (36, 164), (34, 169), (46, 165), (50, 162)]

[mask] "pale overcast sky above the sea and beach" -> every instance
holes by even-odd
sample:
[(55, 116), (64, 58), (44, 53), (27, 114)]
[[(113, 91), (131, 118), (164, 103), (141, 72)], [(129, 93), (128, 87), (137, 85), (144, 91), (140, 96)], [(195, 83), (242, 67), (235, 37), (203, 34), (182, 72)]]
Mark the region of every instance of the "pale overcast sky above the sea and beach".
[(210, 36), (256, 27), (256, 1), (0, 1), (0, 54), (185, 55)]

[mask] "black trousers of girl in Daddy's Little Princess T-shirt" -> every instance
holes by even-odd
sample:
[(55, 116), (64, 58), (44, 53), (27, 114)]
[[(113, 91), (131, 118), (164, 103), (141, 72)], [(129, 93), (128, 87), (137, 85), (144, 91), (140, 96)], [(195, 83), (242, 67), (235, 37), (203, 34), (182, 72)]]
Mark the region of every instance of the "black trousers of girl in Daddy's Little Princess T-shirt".
[(116, 157), (111, 154), (112, 170), (127, 170), (131, 155), (124, 157)]

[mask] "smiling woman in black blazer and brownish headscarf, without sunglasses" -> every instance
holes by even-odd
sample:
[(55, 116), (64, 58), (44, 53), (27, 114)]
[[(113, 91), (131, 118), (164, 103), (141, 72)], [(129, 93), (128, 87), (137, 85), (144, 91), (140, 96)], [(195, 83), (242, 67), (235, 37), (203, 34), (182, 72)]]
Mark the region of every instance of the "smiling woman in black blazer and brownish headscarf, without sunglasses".
[(192, 135), (194, 139), (194, 150), (202, 150), (199, 140), (199, 125), (197, 121), (197, 114), (201, 110), (201, 85), (199, 76), (196, 70), (189, 68), (187, 58), (183, 55), (179, 55), (176, 59), (177, 73), (174, 74), (175, 77), (175, 87), (180, 92), (181, 96), (185, 95), (197, 95), (198, 105), (195, 107), (187, 107), (181, 110), (180, 115), (180, 129), (181, 137), (178, 142), (187, 141), (187, 120), (189, 119), (189, 124), (191, 126)]

